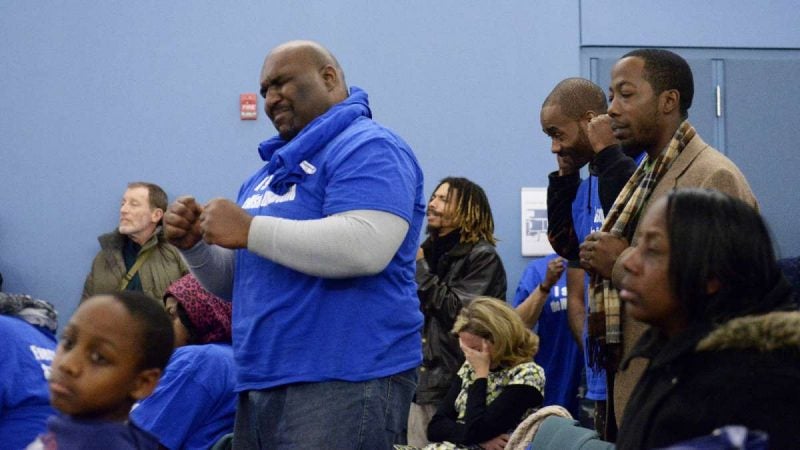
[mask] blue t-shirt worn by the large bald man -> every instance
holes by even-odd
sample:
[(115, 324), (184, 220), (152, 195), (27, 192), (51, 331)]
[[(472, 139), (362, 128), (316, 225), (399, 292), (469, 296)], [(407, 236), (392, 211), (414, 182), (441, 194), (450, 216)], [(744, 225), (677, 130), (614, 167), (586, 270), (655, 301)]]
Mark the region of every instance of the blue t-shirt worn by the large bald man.
[(425, 211), (422, 171), (408, 145), (367, 117), (317, 152), (307, 177), (277, 195), (267, 166), (247, 180), (239, 204), (254, 216), (320, 219), (379, 210), (409, 223), (389, 265), (373, 276), (306, 275), (237, 250), (233, 345), (238, 391), (297, 382), (364, 381), (422, 361), (414, 280)]

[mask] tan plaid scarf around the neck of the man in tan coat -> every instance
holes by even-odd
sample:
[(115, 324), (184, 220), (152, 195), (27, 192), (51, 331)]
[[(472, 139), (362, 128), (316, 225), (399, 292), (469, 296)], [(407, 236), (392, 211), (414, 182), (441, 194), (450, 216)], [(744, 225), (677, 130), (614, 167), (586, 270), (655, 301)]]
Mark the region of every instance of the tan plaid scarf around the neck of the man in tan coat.
[[(600, 231), (611, 232), (633, 242), (642, 209), (658, 182), (694, 135), (694, 127), (684, 120), (667, 149), (652, 164), (649, 163), (649, 155), (645, 156), (617, 196)], [(589, 361), (597, 369), (604, 367), (606, 370), (616, 370), (622, 356), (619, 292), (612, 286), (611, 280), (593, 274), (589, 294)]]

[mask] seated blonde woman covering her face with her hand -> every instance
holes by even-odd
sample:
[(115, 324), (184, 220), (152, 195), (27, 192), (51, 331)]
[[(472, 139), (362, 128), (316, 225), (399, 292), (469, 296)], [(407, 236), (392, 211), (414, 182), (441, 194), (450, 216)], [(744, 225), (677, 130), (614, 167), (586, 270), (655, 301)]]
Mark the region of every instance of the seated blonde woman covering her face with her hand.
[(509, 434), (542, 404), (544, 370), (533, 362), (539, 338), (506, 302), (477, 297), (452, 330), (466, 361), (428, 425), (429, 449), (505, 447)]

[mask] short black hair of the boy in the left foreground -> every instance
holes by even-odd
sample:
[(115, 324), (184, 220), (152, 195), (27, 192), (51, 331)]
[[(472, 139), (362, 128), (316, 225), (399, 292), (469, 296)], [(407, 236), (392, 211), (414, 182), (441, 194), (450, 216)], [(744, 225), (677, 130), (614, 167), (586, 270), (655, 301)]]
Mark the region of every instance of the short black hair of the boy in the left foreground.
[(138, 291), (110, 293), (125, 306), (141, 330), (141, 369), (164, 370), (172, 356), (175, 332), (167, 311), (156, 299)]

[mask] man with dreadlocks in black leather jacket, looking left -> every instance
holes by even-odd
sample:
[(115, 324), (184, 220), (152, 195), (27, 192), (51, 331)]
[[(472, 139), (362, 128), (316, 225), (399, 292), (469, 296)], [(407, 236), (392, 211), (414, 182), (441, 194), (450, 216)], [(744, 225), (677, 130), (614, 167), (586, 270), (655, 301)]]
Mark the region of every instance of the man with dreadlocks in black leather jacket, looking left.
[(492, 209), (480, 186), (456, 177), (439, 182), (428, 203), (428, 235), (417, 251), (417, 295), (425, 325), (408, 419), (408, 443), (417, 447), (427, 444), (428, 422), (464, 362), (450, 333), (461, 307), (481, 295), (506, 297)]

